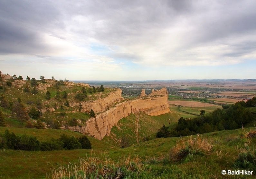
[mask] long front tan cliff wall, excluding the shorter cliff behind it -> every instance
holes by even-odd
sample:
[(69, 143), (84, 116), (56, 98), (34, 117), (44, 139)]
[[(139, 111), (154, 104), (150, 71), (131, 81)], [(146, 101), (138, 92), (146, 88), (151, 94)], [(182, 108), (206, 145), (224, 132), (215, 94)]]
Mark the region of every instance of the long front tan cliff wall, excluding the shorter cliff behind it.
[[(121, 90), (119, 93), (121, 95)], [(85, 127), (69, 127), (69, 129), (80, 131), (84, 134), (90, 134), (101, 140), (105, 135), (110, 134), (111, 128), (115, 126), (121, 118), (125, 118), (132, 113), (142, 111), (151, 116), (168, 113), (170, 109), (167, 100), (168, 93), (166, 88), (156, 91), (152, 90), (152, 93), (149, 95), (144, 95), (139, 99), (118, 103), (115, 107), (97, 114), (95, 118), (90, 118), (86, 122)], [(100, 106), (103, 105), (101, 104)], [(92, 109), (94, 111), (102, 111), (104, 108), (97, 107), (97, 109)]]

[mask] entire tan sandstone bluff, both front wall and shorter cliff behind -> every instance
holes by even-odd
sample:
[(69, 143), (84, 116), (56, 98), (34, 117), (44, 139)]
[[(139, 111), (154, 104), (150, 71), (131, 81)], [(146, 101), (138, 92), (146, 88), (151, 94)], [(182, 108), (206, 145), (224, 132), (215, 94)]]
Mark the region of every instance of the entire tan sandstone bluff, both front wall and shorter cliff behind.
[(148, 115), (157, 116), (170, 111), (166, 88), (156, 91), (152, 90), (149, 95), (146, 95), (145, 90), (142, 90), (140, 97), (135, 100), (123, 101), (121, 93), (122, 90), (118, 89), (104, 99), (98, 99), (90, 103), (84, 102), (85, 110), (92, 108), (98, 114), (94, 118), (90, 118), (85, 126), (67, 128), (84, 134), (90, 134), (90, 136), (101, 140), (104, 136), (110, 134), (111, 128), (121, 118), (125, 118), (130, 114), (142, 111)]

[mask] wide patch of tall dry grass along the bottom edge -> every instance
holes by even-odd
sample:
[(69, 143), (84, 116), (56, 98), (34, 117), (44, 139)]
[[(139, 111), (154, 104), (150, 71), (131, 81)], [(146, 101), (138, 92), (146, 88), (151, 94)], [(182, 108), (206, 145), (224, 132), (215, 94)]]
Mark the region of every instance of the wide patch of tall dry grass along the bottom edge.
[(99, 157), (86, 157), (79, 159), (76, 164), (69, 163), (67, 166), (62, 165), (50, 171), (47, 178), (50, 179), (84, 179), (84, 178), (106, 178), (119, 179), (127, 176), (137, 176), (145, 171), (147, 165), (140, 163), (137, 156), (122, 157), (119, 162), (115, 162), (109, 157), (100, 159)]

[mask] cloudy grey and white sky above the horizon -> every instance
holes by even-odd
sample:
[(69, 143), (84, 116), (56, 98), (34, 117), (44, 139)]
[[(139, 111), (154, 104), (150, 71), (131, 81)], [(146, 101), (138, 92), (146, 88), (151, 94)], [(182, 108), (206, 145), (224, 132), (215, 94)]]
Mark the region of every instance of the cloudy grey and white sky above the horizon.
[(0, 71), (69, 80), (256, 79), (255, 0), (0, 0)]

